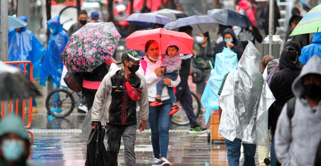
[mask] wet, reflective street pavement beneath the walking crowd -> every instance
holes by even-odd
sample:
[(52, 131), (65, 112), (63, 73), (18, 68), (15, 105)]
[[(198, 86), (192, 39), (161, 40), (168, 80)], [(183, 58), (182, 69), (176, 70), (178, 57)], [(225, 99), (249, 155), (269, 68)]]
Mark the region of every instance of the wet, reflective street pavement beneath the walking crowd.
[[(195, 87), (191, 86), (192, 91)], [(46, 88), (42, 87), (46, 96)], [(32, 115), (30, 131), (34, 134), (31, 162), (48, 166), (84, 165), (86, 140), (80, 136), (85, 114), (74, 109), (66, 118), (48, 116), (44, 106), (45, 97), (38, 97), (39, 113)], [(204, 116), (204, 115), (203, 115)], [(26, 121), (28, 118), (26, 118)], [(204, 120), (201, 123), (204, 123)], [(207, 133), (190, 134), (189, 126), (170, 126), (168, 160), (175, 166), (228, 165), (227, 149), (222, 142), (207, 143)], [(136, 165), (151, 165), (153, 162), (149, 125), (143, 132), (137, 131), (135, 152)], [(105, 143), (107, 145), (107, 143)], [(257, 161), (256, 153), (256, 163)], [(124, 146), (118, 155), (120, 165), (125, 165)], [(242, 162), (242, 156), (241, 156)], [(242, 164), (241, 164), (242, 165)]]

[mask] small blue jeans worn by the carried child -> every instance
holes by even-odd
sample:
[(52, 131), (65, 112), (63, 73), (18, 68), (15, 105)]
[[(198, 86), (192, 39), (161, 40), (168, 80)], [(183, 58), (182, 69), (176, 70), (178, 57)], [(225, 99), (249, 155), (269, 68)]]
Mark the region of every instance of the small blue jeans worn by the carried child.
[[(163, 87), (165, 86), (164, 79), (169, 78), (170, 80), (175, 81), (177, 79), (177, 77), (178, 77), (177, 73), (168, 73), (162, 79), (160, 79), (160, 81), (156, 84), (157, 95), (161, 95)], [(174, 93), (174, 87), (167, 86), (167, 90), (168, 90), (168, 95), (169, 95), (170, 101), (172, 103), (176, 103), (176, 96)]]

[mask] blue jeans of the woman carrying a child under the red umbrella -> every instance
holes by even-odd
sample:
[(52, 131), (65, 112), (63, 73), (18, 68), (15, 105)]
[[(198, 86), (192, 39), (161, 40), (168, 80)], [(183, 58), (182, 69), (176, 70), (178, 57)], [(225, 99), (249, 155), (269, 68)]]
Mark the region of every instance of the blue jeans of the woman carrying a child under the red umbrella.
[[(169, 125), (172, 116), (169, 115), (172, 103), (170, 99), (162, 101), (163, 104), (155, 107), (149, 106), (148, 123), (151, 127), (151, 141), (154, 157), (159, 159), (167, 157), (169, 143)], [(151, 104), (152, 102), (149, 102)]]

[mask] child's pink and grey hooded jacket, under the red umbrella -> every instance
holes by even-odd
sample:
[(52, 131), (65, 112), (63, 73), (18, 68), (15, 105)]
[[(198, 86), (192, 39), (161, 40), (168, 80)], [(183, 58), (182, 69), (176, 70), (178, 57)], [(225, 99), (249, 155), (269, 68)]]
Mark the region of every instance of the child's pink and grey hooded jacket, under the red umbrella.
[[(167, 54), (167, 48), (169, 46), (178, 47), (177, 53), (173, 57), (170, 57)], [(180, 66), (182, 64), (182, 59), (179, 56), (179, 44), (173, 40), (168, 43), (167, 48), (166, 48), (166, 54), (165, 54), (164, 60), (161, 61), (160, 64), (165, 68), (164, 69), (165, 73), (178, 73)]]

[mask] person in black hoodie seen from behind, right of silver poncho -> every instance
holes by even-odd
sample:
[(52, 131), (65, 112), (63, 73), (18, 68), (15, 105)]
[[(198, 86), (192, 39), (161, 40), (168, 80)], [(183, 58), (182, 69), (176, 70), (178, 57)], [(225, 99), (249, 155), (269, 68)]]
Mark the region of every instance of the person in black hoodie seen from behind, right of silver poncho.
[(274, 152), (274, 133), (276, 123), (280, 116), (281, 110), (289, 99), (294, 95), (291, 91), (291, 85), (296, 79), (302, 69), (299, 62), (297, 51), (291, 47), (285, 47), (280, 55), (280, 62), (278, 63), (280, 71), (276, 72), (271, 76), (269, 87), (275, 97), (275, 102), (269, 108), (269, 126), (271, 127), (271, 165), (280, 165), (276, 161)]

